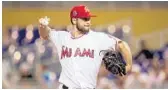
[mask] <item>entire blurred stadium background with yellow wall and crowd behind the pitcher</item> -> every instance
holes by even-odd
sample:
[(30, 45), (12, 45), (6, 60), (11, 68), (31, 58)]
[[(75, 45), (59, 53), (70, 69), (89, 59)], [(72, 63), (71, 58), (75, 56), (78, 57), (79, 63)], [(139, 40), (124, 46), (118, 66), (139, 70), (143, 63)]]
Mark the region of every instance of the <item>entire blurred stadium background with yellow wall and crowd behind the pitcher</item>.
[(133, 68), (125, 77), (100, 68), (97, 88), (168, 88), (168, 2), (165, 1), (3, 1), (3, 88), (57, 88), (61, 71), (57, 50), (39, 38), (38, 19), (70, 29), (69, 11), (84, 4), (98, 17), (92, 28), (129, 43)]

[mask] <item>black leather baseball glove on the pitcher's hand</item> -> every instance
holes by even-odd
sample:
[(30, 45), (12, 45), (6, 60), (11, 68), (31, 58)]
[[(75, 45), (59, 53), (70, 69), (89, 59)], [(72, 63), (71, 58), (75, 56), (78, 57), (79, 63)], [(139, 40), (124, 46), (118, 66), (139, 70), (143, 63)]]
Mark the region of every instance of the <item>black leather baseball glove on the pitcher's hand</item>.
[(103, 62), (108, 71), (114, 75), (126, 75), (126, 64), (123, 62), (122, 55), (117, 51), (104, 51)]

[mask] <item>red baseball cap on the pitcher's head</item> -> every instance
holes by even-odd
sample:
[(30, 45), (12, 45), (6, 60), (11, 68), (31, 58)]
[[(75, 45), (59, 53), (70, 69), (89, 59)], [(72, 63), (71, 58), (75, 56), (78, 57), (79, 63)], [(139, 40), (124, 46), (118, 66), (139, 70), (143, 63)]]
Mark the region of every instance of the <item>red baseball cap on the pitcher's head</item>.
[(70, 12), (71, 18), (90, 18), (96, 17), (96, 15), (92, 15), (90, 10), (84, 5), (74, 6)]

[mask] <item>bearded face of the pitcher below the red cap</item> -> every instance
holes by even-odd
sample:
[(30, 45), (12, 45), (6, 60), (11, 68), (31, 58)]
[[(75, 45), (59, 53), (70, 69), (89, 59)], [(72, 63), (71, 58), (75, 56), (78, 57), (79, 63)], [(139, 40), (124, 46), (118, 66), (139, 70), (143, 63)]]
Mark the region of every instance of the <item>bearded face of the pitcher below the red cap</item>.
[(76, 28), (79, 31), (86, 33), (89, 31), (90, 26), (91, 26), (90, 18), (78, 18), (77, 19)]

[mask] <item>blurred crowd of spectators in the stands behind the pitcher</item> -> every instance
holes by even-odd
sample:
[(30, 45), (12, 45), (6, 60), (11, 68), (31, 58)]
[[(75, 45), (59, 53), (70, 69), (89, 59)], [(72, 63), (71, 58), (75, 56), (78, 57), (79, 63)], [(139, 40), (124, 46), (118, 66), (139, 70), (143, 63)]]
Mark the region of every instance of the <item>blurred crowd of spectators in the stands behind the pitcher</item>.
[[(64, 28), (65, 30), (65, 28)], [(96, 29), (95, 29), (96, 30)], [(102, 30), (124, 40), (123, 30)], [(133, 55), (132, 72), (114, 76), (102, 65), (97, 88), (168, 88), (168, 44), (150, 50), (145, 40)], [(50, 41), (40, 39), (38, 28), (9, 28), (2, 43), (3, 88), (57, 88), (61, 66), (57, 49)]]

